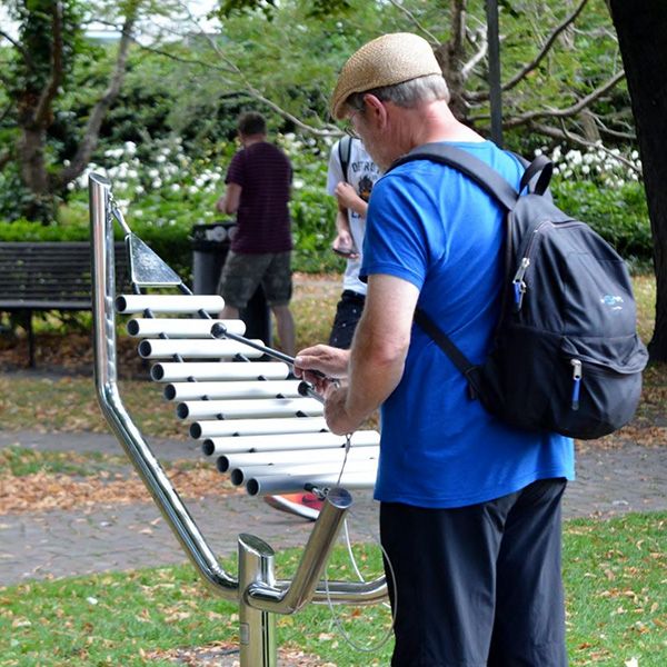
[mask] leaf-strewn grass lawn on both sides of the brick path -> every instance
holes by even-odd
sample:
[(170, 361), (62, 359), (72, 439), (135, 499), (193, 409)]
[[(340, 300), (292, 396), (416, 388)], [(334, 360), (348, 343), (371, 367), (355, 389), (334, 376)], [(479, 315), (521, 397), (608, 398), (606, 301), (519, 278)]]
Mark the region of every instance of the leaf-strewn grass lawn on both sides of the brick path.
[[(638, 277), (635, 290), (639, 330), (647, 340), (653, 328), (655, 281)], [(339, 291), (336, 277), (297, 281), (293, 310), (299, 347), (327, 339)], [(52, 321), (47, 321), (38, 336), (38, 372), (17, 372), (24, 357), (24, 340), (4, 341), (0, 349), (2, 429), (108, 432), (92, 390), (89, 335), (68, 330), (63, 336)], [(186, 439), (187, 429), (175, 419), (173, 407), (162, 400), (160, 388), (138, 379), (146, 377), (147, 369), (137, 361), (133, 347), (133, 341), (121, 336), (120, 384), (130, 412), (149, 437)], [(627, 440), (647, 447), (665, 446), (667, 367), (656, 365), (647, 369), (644, 385), (636, 419), (587, 447), (614, 447)], [(145, 491), (132, 490), (126, 468), (125, 459), (117, 457), (31, 452), (21, 448), (0, 452), (0, 470), (6, 476), (3, 481), (0, 475), (0, 481), (60, 476), (70, 480), (84, 478), (86, 484), (93, 484), (97, 477), (111, 474), (119, 477), (119, 494), (132, 501), (138, 497), (135, 492)], [(192, 470), (182, 461), (173, 464), (170, 470), (177, 471), (192, 476), (183, 486), (190, 485), (197, 496), (206, 495), (206, 489), (219, 484), (217, 472), (211, 472), (209, 480), (206, 472)], [(108, 479), (103, 486), (108, 492), (113, 490)], [(72, 496), (69, 487), (63, 488)], [(663, 667), (666, 664), (666, 514), (651, 514), (566, 524), (571, 665)], [(359, 545), (356, 550), (364, 574), (377, 575), (380, 571), (377, 547)], [(279, 555), (279, 576), (289, 576), (298, 556), (299, 551)], [(341, 551), (336, 555), (330, 577), (350, 576), (351, 567), (344, 561)], [(233, 565), (230, 569), (236, 571)], [(389, 616), (384, 607), (341, 607), (337, 613), (357, 644), (375, 646), (387, 633)], [(236, 606), (212, 597), (189, 566), (0, 588), (2, 667), (171, 665), (170, 650), (202, 646), (215, 650), (220, 643), (236, 645), (237, 633)], [(326, 607), (308, 607), (293, 617), (279, 618), (278, 633), (280, 646), (321, 656), (322, 661), (340, 667), (386, 665), (390, 654), (390, 645), (370, 654), (352, 650)]]

